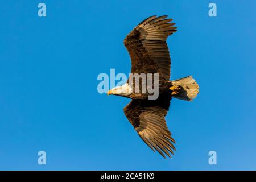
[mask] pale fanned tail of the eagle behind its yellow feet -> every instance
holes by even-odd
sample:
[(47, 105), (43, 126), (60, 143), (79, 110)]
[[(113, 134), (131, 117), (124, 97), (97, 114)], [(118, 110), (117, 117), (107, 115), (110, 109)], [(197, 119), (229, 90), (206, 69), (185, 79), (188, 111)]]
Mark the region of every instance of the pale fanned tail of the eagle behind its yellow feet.
[(171, 81), (171, 90), (175, 90), (172, 97), (185, 101), (192, 101), (199, 93), (199, 85), (192, 76)]

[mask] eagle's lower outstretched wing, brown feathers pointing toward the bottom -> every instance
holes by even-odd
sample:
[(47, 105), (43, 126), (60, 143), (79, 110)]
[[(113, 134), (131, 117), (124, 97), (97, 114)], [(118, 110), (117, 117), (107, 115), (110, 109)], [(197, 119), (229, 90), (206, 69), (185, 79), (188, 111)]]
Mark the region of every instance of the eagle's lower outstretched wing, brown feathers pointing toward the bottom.
[[(132, 100), (124, 109), (125, 115), (134, 126), (142, 140), (164, 158), (163, 152), (171, 158), (169, 152), (175, 147), (164, 117), (167, 114), (170, 101), (167, 100)], [(155, 150), (154, 150), (155, 149)]]

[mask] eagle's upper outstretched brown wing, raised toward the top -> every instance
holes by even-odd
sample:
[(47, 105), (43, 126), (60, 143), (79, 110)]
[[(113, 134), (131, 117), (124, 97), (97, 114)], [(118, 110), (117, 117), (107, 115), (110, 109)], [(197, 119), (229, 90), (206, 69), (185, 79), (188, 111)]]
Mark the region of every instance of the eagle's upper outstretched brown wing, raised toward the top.
[(131, 57), (131, 73), (159, 73), (170, 79), (171, 59), (166, 39), (176, 31), (167, 16), (151, 16), (126, 36), (124, 44)]

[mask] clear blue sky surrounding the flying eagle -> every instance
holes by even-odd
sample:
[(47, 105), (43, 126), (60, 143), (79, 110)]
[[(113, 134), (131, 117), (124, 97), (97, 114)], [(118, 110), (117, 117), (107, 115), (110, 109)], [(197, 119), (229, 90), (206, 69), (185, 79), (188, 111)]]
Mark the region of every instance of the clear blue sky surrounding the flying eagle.
[[(47, 17), (38, 17), (38, 3)], [(208, 16), (210, 2), (217, 17)], [(256, 169), (255, 1), (2, 1), (0, 169)], [(130, 72), (125, 36), (169, 15), (171, 79), (193, 75), (193, 102), (173, 99), (172, 159), (150, 150), (123, 114), (129, 99), (97, 76)], [(39, 166), (38, 151), (47, 154)], [(208, 152), (217, 152), (217, 165)]]

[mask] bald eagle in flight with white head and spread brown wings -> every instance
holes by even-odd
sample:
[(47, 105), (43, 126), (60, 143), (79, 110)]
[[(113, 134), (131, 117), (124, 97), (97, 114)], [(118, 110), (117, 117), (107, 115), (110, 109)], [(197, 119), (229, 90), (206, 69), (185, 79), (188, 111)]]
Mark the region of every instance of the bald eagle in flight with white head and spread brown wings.
[(151, 16), (139, 23), (124, 40), (131, 58), (131, 73), (158, 73), (158, 98), (149, 100), (150, 93), (135, 93), (134, 84), (129, 81), (108, 91), (108, 95), (132, 99), (123, 109), (127, 119), (139, 137), (164, 158), (164, 153), (171, 158), (170, 152), (174, 154), (172, 150), (175, 150), (175, 140), (164, 119), (172, 97), (192, 101), (199, 93), (199, 85), (192, 76), (169, 81), (171, 59), (166, 39), (177, 28), (171, 21), (167, 15)]

